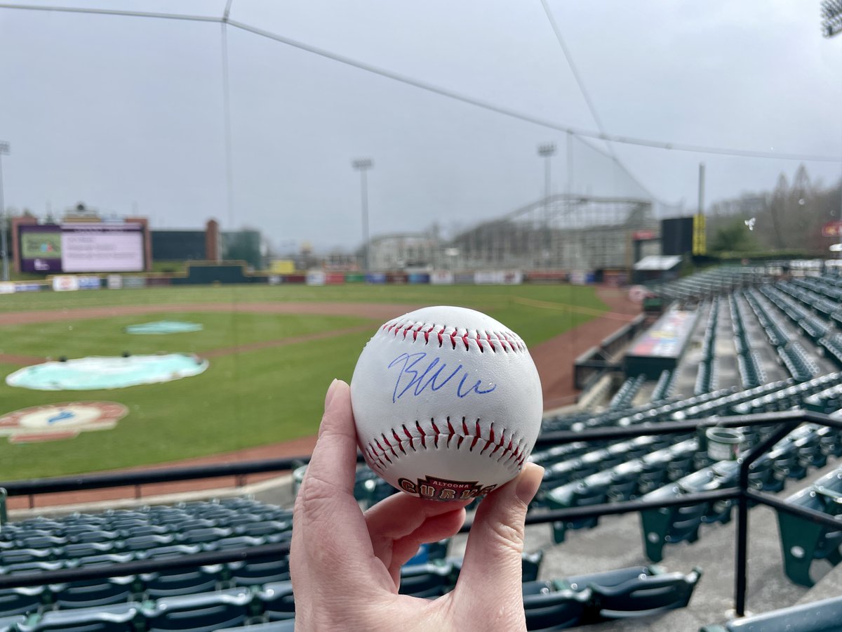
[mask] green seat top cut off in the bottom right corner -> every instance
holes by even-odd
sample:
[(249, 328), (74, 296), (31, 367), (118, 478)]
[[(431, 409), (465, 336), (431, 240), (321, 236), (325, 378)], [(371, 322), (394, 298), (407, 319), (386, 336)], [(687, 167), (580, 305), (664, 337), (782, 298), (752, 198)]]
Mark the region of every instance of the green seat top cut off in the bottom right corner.
[(751, 614), (722, 625), (706, 625), (699, 632), (837, 632), (842, 621), (842, 597), (831, 597), (790, 608)]

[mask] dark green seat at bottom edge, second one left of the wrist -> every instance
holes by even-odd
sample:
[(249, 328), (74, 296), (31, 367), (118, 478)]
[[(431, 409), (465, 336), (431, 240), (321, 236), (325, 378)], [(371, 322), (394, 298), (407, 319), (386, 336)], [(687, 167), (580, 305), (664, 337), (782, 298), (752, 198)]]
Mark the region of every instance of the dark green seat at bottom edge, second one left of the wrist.
[(158, 599), (147, 609), (148, 632), (214, 632), (246, 624), (253, 594), (244, 588)]

